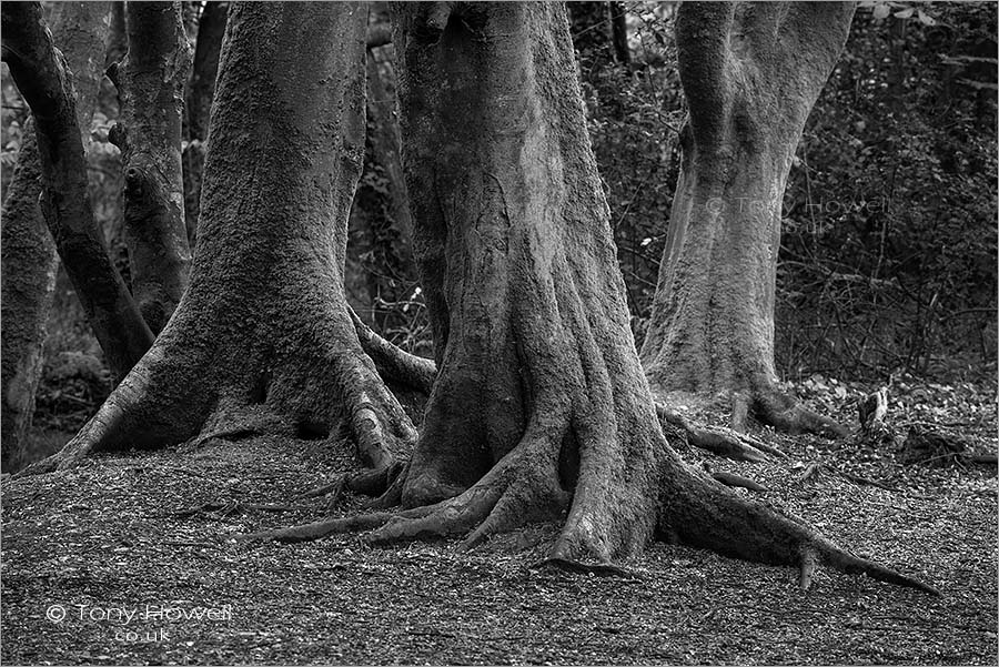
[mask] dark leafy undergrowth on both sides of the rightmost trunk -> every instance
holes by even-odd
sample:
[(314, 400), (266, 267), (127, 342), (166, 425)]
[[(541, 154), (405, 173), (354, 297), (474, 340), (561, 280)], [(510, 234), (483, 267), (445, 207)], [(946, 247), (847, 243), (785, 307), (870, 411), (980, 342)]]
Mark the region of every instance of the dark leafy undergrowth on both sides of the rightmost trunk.
[[(817, 102), (784, 202), (777, 364), (939, 380), (996, 368), (996, 12), (867, 2)], [(683, 122), (670, 6), (627, 3), (635, 59), (576, 47), (640, 341)]]

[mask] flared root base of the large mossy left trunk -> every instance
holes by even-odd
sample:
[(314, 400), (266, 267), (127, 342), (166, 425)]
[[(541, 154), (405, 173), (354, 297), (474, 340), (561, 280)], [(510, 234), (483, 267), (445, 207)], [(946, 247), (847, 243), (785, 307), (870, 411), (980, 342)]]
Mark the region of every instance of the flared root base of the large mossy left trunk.
[(223, 347), (229, 354), (218, 355), (212, 352), (218, 343), (179, 335), (201, 329), (179, 311), (83, 428), (60, 452), (20, 474), (64, 469), (93, 452), (191, 438), (192, 446), (261, 433), (325, 438), (337, 420), (364, 465), (397, 471), (416, 429), (356, 338), (351, 341), (345, 316), (316, 321), (311, 325), (315, 337), (293, 356), (278, 354), (266, 341), (243, 340), (231, 341)]

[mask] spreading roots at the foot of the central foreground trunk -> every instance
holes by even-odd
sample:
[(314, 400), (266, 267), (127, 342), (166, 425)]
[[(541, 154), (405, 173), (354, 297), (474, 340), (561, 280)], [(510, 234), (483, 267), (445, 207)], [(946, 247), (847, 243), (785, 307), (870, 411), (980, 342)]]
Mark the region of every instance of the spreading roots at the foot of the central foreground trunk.
[[(688, 544), (723, 555), (799, 569), (803, 589), (811, 585), (818, 564), (847, 574), (864, 574), (874, 579), (939, 595), (917, 579), (870, 560), (858, 558), (797, 517), (778, 514), (745, 499), (707, 475), (678, 461), (672, 452), (659, 451), (659, 488), (645, 496), (632, 496), (643, 507), (645, 521), (637, 526), (619, 522), (616, 507), (608, 503), (607, 488), (620, 486), (612, 475), (591, 475), (581, 479), (574, 493), (558, 479), (557, 447), (547, 438), (525, 438), (482, 479), (464, 492), (428, 505), (391, 512), (379, 511), (345, 518), (325, 519), (242, 535), (243, 539), (299, 543), (350, 532), (367, 532), (371, 545), (392, 545), (413, 540), (463, 537), (462, 550), (482, 545), (493, 536), (517, 532), (531, 524), (559, 522), (562, 529), (549, 546), (544, 564), (571, 572), (626, 576), (628, 570), (613, 563), (612, 555), (633, 556), (646, 542), (657, 539)], [(538, 466), (547, 459), (551, 465)], [(542, 473), (547, 469), (548, 474)], [(413, 475), (402, 472), (380, 501), (397, 502), (400, 482)], [(583, 512), (574, 495), (592, 498)], [(642, 525), (652, 526), (646, 534)], [(599, 572), (597, 572), (599, 570)]]

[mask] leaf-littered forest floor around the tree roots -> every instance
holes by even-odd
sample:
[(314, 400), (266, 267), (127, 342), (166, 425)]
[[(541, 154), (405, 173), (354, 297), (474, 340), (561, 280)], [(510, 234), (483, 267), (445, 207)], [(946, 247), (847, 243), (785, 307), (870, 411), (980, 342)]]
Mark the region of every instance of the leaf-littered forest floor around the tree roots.
[[(859, 387), (809, 382), (799, 392), (814, 407), (849, 418)], [(996, 451), (995, 386), (912, 385), (892, 411), (899, 427), (922, 422)], [(371, 548), (356, 535), (236, 542), (325, 516), (323, 499), (295, 496), (353, 465), (346, 446), (254, 437), (6, 477), (0, 659), (996, 664), (995, 466), (906, 465), (890, 448), (757, 435), (789, 459), (685, 456), (751, 477), (768, 489), (753, 496), (944, 596), (823, 568), (803, 594), (790, 569), (667, 545), (627, 564), (635, 578), (605, 578), (533, 569), (538, 553), (506, 540), (470, 553), (453, 542)], [(362, 503), (347, 496), (334, 513)]]

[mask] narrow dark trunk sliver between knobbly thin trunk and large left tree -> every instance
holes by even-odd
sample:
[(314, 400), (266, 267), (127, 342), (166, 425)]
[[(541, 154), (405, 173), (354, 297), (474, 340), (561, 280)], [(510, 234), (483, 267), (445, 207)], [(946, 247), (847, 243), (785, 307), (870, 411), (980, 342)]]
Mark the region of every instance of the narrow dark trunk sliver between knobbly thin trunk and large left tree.
[(204, 9), (201, 10), (198, 44), (194, 48), (194, 63), (191, 65), (191, 81), (188, 85), (188, 145), (183, 153), (184, 221), (188, 225), (188, 242), (192, 249), (198, 236), (209, 119), (212, 98), (215, 94), (215, 77), (219, 72), (219, 55), (222, 52), (222, 37), (225, 34), (228, 13), (228, 2), (205, 2)]

